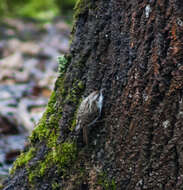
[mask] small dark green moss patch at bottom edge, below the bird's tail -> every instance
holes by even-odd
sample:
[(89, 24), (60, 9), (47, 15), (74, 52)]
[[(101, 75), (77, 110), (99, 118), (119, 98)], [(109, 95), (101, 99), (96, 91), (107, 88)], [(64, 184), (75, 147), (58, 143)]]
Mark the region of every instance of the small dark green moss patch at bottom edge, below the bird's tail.
[(98, 184), (105, 190), (116, 190), (116, 183), (114, 179), (108, 179), (106, 173), (100, 173), (98, 176)]

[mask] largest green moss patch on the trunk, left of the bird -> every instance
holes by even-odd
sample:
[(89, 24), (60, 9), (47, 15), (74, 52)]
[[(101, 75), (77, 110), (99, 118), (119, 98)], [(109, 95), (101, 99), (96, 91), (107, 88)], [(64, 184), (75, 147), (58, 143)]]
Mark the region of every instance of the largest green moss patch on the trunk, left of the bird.
[[(59, 97), (62, 97), (62, 104), (73, 103), (79, 105), (81, 92), (84, 89), (82, 81), (75, 81), (72, 88), (67, 92), (67, 96), (63, 96), (62, 80), (58, 82), (57, 93)], [(58, 108), (59, 107), (59, 108)], [(29, 169), (29, 182), (33, 182), (36, 177), (42, 177), (45, 175), (49, 168), (56, 166), (58, 171), (65, 172), (72, 165), (77, 157), (76, 144), (73, 142), (58, 143), (60, 135), (59, 131), (59, 120), (61, 118), (62, 108), (56, 106), (56, 93), (53, 92), (50, 97), (47, 109), (40, 120), (38, 126), (34, 130), (31, 140), (35, 139), (39, 141), (46, 141), (49, 152), (45, 155), (44, 160), (39, 161), (34, 168)]]

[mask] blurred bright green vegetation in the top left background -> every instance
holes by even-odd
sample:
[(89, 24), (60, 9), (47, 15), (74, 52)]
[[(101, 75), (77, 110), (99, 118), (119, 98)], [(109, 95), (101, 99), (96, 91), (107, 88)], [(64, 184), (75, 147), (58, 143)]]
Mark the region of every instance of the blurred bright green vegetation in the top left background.
[(2, 0), (1, 16), (18, 16), (35, 19), (51, 19), (59, 13), (71, 11), (76, 0)]

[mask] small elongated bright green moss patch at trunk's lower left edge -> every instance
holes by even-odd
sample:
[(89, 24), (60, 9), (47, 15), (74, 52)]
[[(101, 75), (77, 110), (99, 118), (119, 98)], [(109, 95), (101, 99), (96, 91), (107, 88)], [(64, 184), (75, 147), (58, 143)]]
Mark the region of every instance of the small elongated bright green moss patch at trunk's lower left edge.
[(29, 160), (31, 160), (35, 155), (35, 148), (30, 148), (28, 152), (22, 153), (14, 162), (13, 168), (10, 171), (10, 174), (13, 174), (17, 168), (20, 168), (26, 165)]

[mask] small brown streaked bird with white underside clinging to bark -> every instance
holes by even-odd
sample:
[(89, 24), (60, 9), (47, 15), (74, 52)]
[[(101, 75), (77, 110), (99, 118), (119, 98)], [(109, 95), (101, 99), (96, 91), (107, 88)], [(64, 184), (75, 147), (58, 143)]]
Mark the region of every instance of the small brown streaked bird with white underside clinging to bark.
[(83, 142), (88, 145), (88, 130), (101, 116), (103, 106), (103, 90), (96, 90), (81, 102), (76, 117), (75, 131), (83, 129)]

